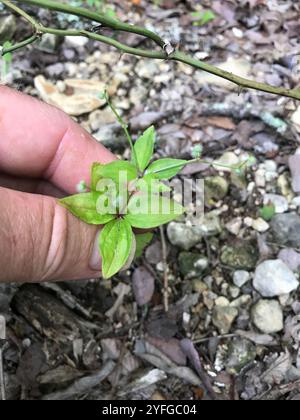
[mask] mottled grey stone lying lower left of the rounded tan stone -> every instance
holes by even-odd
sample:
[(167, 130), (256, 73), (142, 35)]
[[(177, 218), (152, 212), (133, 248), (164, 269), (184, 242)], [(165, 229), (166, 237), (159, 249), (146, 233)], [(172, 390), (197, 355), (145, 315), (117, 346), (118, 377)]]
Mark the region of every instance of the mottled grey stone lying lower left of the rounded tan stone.
[(228, 348), (226, 370), (231, 375), (238, 374), (246, 365), (253, 362), (256, 357), (256, 348), (245, 338), (234, 338)]

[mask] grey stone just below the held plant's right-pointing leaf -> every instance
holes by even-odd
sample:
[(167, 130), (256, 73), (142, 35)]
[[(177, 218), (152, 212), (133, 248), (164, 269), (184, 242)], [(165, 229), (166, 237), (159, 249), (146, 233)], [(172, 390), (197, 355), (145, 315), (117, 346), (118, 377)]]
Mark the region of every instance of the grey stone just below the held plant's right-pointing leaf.
[(202, 231), (199, 226), (187, 226), (185, 223), (170, 223), (167, 233), (172, 245), (186, 251), (189, 251), (202, 240)]

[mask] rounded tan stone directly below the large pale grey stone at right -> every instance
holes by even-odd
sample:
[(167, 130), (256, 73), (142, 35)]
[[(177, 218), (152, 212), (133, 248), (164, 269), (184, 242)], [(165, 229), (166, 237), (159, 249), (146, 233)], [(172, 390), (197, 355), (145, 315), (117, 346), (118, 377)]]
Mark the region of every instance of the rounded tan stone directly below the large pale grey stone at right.
[(254, 325), (265, 334), (283, 330), (283, 312), (277, 300), (259, 300), (252, 308)]

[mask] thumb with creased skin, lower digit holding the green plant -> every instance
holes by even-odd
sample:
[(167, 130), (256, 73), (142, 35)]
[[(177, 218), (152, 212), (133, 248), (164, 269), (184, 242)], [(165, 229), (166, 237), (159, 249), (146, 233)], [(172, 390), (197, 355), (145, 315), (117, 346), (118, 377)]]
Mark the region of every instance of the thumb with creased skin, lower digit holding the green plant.
[(0, 188), (0, 282), (76, 280), (100, 275), (99, 227), (52, 197)]

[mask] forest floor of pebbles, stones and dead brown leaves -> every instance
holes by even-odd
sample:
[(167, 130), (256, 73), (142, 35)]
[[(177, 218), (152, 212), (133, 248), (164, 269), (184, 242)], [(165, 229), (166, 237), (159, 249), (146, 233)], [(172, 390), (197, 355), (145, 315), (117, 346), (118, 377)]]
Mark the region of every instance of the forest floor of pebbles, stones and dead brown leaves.
[[(299, 87), (297, 2), (207, 0), (202, 11), (192, 0), (110, 3), (121, 20), (180, 38), (181, 50), (198, 59)], [(213, 11), (205, 24), (203, 9)], [(55, 16), (39, 18), (66, 23)], [(149, 45), (136, 35), (119, 39)], [(66, 110), (120, 157), (129, 149), (97, 98), (105, 86), (134, 137), (155, 125), (157, 157), (190, 159), (201, 145), (205, 158), (231, 165), (256, 159), (242, 174), (188, 166), (178, 182), (205, 180), (203, 222), (157, 231), (143, 256), (112, 280), (0, 285), (7, 398), (299, 400), (299, 104), (82, 38), (46, 36), (15, 53), (5, 76)]]

